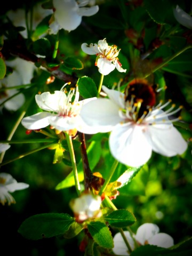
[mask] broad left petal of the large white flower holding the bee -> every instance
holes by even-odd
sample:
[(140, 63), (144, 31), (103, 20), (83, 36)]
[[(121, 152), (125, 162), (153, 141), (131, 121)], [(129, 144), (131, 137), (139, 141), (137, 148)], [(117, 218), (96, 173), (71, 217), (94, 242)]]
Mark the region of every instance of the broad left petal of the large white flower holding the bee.
[(109, 132), (113, 129), (114, 125), (122, 121), (118, 111), (119, 107), (113, 101), (109, 99), (96, 99), (87, 102), (82, 107), (80, 116), (90, 126), (90, 134), (95, 129), (98, 129), (98, 132)]

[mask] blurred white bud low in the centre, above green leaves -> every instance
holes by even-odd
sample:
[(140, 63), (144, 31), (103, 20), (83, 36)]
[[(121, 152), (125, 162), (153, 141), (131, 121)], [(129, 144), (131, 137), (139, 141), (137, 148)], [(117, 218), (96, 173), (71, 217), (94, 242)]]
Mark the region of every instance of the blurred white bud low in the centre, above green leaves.
[(101, 217), (101, 197), (98, 195), (82, 194), (70, 201), (70, 207), (77, 222)]

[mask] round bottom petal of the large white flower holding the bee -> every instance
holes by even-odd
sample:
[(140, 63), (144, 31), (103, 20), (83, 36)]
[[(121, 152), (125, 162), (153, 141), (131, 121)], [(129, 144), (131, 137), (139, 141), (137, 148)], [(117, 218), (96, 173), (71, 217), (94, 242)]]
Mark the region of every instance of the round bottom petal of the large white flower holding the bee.
[(114, 127), (109, 137), (109, 146), (111, 154), (119, 162), (132, 167), (145, 164), (152, 152), (142, 127), (130, 123)]

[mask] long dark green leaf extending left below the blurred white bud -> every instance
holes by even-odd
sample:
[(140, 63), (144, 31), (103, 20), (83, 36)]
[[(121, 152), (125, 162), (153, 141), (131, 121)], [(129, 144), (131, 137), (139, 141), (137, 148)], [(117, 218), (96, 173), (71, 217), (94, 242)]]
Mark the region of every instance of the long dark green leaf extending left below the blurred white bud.
[(37, 240), (64, 234), (74, 222), (65, 213), (42, 213), (22, 222), (18, 232), (27, 239)]

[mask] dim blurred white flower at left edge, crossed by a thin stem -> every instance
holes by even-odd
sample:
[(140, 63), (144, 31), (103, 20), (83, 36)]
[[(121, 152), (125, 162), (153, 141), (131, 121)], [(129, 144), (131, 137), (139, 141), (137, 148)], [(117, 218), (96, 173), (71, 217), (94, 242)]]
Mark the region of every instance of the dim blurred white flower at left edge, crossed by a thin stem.
[[(29, 61), (17, 58), (11, 61), (6, 61), (6, 65), (13, 68), (13, 73), (7, 75), (0, 81), (1, 88), (9, 88), (12, 86), (29, 84), (33, 77), (35, 65)], [(19, 93), (15, 97), (8, 100), (14, 94), (18, 93), (16, 89), (8, 89), (0, 93), (0, 104), (4, 103), (4, 107), (10, 111), (18, 110), (25, 102), (25, 96), (23, 93)], [(7, 100), (7, 101), (6, 101)], [(2, 109), (3, 107), (1, 107)]]

